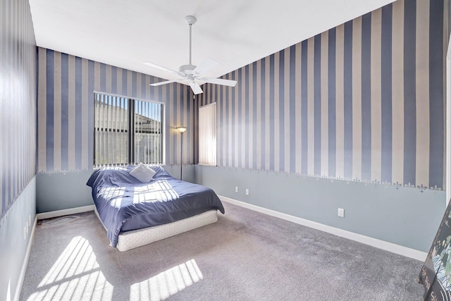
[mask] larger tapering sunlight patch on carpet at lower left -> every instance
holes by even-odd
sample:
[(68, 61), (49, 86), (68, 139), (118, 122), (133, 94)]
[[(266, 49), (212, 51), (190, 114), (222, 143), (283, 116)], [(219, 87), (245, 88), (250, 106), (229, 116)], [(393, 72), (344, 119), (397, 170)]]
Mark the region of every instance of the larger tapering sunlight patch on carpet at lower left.
[(88, 240), (77, 236), (28, 300), (111, 300), (113, 285), (101, 273)]

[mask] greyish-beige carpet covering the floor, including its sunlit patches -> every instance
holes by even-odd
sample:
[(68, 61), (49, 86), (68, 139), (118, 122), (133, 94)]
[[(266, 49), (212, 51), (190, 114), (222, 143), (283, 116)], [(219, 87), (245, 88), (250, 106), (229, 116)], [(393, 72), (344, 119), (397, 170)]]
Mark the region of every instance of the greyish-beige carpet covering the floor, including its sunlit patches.
[(40, 221), (20, 300), (420, 300), (422, 262), (224, 203), (127, 252), (94, 212)]

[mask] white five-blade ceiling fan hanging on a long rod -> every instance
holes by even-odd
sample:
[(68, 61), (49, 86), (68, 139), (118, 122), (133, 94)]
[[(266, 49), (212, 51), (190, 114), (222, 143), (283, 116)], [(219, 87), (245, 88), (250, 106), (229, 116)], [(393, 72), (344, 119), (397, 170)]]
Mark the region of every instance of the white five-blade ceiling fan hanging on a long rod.
[(171, 82), (181, 82), (185, 85), (189, 85), (192, 89), (192, 92), (194, 94), (200, 94), (202, 93), (202, 88), (199, 86), (200, 82), (209, 82), (211, 84), (216, 85), (226, 85), (229, 87), (235, 87), (237, 81), (236, 80), (224, 80), (222, 78), (205, 78), (202, 75), (207, 71), (213, 68), (218, 64), (217, 61), (211, 58), (204, 59), (202, 63), (199, 64), (199, 66), (194, 66), (191, 63), (191, 27), (196, 23), (197, 19), (193, 16), (186, 16), (185, 17), (186, 23), (190, 26), (190, 63), (187, 65), (180, 66), (178, 71), (172, 70), (170, 68), (166, 68), (163, 66), (159, 66), (156, 63), (149, 63), (144, 62), (145, 65), (151, 66), (154, 68), (158, 68), (160, 70), (164, 70), (166, 72), (175, 73), (177, 75), (180, 75), (180, 79), (178, 80), (165, 80), (163, 82), (155, 82), (154, 84), (150, 84), (151, 86), (159, 86), (159, 85), (166, 85)]

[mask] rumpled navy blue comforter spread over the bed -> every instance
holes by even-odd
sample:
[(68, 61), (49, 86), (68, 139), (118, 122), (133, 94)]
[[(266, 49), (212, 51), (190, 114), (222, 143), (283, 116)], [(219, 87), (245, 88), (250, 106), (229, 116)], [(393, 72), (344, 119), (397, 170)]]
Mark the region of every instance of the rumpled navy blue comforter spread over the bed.
[(152, 166), (154, 178), (142, 183), (130, 175), (134, 167), (101, 168), (87, 181), (112, 247), (123, 231), (171, 223), (211, 209), (224, 214), (221, 200), (210, 188), (173, 178), (161, 166)]

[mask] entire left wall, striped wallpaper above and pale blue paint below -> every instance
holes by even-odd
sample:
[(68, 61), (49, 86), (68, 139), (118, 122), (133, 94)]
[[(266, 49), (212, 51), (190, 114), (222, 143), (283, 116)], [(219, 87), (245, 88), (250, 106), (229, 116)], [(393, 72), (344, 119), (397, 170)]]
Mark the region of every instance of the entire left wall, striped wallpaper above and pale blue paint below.
[(27, 0), (0, 0), (0, 20), (0, 300), (12, 300), (36, 212), (36, 41)]

